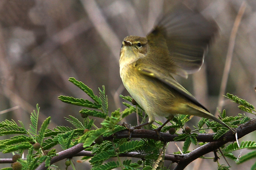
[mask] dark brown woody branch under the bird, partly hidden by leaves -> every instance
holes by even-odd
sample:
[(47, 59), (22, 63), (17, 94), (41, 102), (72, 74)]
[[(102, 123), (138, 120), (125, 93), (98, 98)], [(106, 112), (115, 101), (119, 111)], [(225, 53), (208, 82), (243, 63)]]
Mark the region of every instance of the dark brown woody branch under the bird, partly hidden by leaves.
[[(238, 128), (236, 128), (238, 139), (255, 131), (256, 130), (256, 118), (240, 125)], [(123, 130), (120, 132), (117, 132), (115, 134), (116, 138), (127, 138), (129, 137), (128, 130)], [(228, 131), (226, 134), (224, 134), (222, 137), (220, 137), (218, 140), (213, 140), (214, 134), (198, 134), (196, 137), (198, 142), (209, 142), (194, 151), (191, 151), (188, 154), (185, 154), (184, 156), (173, 156), (166, 154), (165, 160), (171, 160), (172, 162), (177, 162), (178, 165), (176, 166), (177, 169), (184, 169), (190, 162), (196, 160), (197, 158), (205, 155), (206, 153), (212, 152), (216, 149), (218, 149), (220, 146), (228, 143), (236, 141), (235, 135), (232, 134), (231, 131)], [(167, 133), (161, 133), (161, 137), (166, 142), (173, 141), (173, 138), (177, 135), (170, 135)], [(158, 139), (158, 135), (155, 131), (152, 130), (144, 130), (144, 129), (138, 129), (134, 130), (132, 132), (132, 137), (134, 138), (149, 138), (149, 139)], [(225, 138), (225, 140), (224, 140)], [(112, 140), (112, 136), (103, 138), (104, 140)], [(83, 151), (83, 143), (79, 143), (76, 146), (73, 146), (72, 148), (69, 148), (65, 151), (61, 151), (58, 154), (58, 156), (55, 156), (51, 160), (51, 164), (58, 162), (65, 158), (71, 158), (74, 156), (93, 156), (92, 152), (90, 151)], [(121, 156), (125, 157), (133, 157), (136, 152), (127, 153), (127, 154), (121, 154)], [(138, 154), (138, 153), (137, 153)], [(1, 160), (1, 159), (0, 159)], [(44, 167), (44, 163), (42, 163), (40, 166), (36, 168), (36, 170), (45, 170), (47, 167)], [(177, 170), (176, 169), (176, 170)]]

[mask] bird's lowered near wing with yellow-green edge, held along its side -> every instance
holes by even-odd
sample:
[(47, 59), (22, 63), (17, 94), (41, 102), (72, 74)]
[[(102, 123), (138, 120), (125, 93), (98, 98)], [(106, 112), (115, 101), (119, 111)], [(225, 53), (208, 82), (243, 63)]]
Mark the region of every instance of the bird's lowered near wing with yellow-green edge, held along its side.
[(169, 88), (172, 88), (176, 91), (178, 91), (180, 94), (185, 96), (189, 101), (196, 104), (197, 106), (202, 107), (204, 110), (209, 112), (202, 104), (200, 104), (196, 98), (191, 95), (183, 86), (181, 86), (171, 75), (167, 75), (165, 73), (162, 73), (158, 69), (151, 67), (151, 66), (145, 66), (143, 64), (137, 65), (136, 69), (149, 77), (158, 79), (159, 81), (162, 81), (164, 84), (166, 84)]

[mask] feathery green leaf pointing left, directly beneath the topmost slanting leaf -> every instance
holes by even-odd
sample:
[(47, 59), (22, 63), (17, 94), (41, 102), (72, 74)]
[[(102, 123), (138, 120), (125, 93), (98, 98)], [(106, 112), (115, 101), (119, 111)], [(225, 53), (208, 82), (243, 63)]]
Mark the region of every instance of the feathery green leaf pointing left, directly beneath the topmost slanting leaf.
[(97, 103), (92, 103), (91, 101), (87, 100), (87, 99), (78, 99), (78, 98), (74, 98), (74, 97), (68, 97), (68, 96), (62, 96), (60, 95), (58, 97), (59, 100), (61, 100), (64, 103), (68, 103), (68, 104), (74, 104), (77, 106), (83, 106), (83, 107), (88, 107), (88, 108), (93, 108), (93, 109), (100, 109), (101, 105), (97, 104)]

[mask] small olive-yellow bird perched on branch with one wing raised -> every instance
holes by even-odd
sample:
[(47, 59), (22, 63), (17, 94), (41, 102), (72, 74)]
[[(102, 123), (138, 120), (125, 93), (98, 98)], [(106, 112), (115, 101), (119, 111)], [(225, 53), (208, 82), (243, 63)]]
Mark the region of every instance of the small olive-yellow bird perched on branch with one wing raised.
[(148, 114), (148, 122), (156, 117), (169, 119), (174, 114), (195, 115), (212, 119), (232, 128), (213, 116), (178, 81), (174, 74), (188, 77), (204, 62), (204, 53), (219, 27), (215, 21), (180, 4), (161, 17), (146, 37), (124, 38), (120, 51), (120, 76), (124, 87)]

